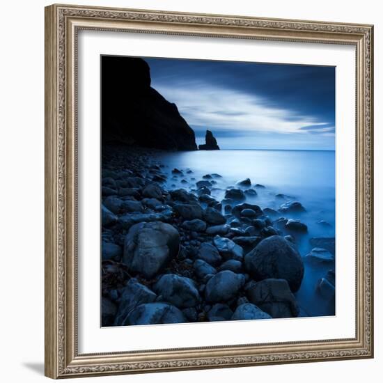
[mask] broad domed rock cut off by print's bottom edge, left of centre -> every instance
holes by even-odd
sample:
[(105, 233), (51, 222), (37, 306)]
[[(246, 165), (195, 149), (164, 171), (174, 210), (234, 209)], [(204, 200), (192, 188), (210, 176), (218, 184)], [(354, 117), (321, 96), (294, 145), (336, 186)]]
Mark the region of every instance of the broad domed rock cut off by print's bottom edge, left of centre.
[(179, 308), (162, 302), (146, 303), (134, 308), (127, 317), (129, 325), (160, 325), (185, 323), (187, 319)]

